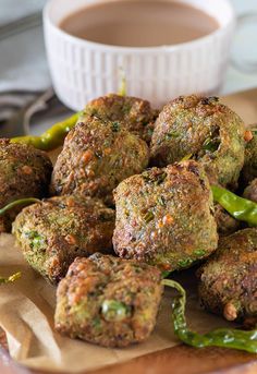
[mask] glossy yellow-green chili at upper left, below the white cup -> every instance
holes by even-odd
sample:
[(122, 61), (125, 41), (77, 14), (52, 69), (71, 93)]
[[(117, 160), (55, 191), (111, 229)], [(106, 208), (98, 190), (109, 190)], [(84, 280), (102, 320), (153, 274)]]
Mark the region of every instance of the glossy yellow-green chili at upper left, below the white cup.
[(53, 124), (50, 129), (44, 132), (40, 136), (17, 136), (11, 138), (11, 143), (23, 143), (33, 145), (35, 148), (51, 150), (63, 144), (63, 141), (69, 131), (75, 126), (79, 113), (65, 119), (62, 122)]

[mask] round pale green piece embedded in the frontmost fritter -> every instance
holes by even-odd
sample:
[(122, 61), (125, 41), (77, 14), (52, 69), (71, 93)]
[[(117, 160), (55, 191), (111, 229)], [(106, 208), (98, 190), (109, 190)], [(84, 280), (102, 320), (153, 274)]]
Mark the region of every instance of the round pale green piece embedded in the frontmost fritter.
[(101, 304), (101, 313), (106, 321), (123, 321), (128, 312), (127, 305), (117, 300), (105, 300)]

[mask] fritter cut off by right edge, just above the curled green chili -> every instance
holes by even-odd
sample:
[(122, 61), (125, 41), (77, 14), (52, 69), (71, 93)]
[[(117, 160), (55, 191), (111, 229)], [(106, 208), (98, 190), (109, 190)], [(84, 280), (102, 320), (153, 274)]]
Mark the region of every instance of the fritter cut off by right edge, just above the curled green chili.
[(199, 297), (204, 306), (229, 321), (257, 322), (257, 229), (222, 238), (218, 251), (200, 267)]

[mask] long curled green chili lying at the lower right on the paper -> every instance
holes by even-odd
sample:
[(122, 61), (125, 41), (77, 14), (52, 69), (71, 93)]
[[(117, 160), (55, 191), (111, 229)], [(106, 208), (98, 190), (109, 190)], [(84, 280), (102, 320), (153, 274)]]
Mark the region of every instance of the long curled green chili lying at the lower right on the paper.
[(162, 283), (179, 291), (179, 295), (174, 297), (171, 302), (171, 310), (174, 333), (183, 342), (196, 348), (223, 347), (257, 353), (257, 329), (244, 331), (218, 328), (203, 335), (191, 331), (185, 319), (185, 290), (180, 283), (171, 279), (163, 279)]

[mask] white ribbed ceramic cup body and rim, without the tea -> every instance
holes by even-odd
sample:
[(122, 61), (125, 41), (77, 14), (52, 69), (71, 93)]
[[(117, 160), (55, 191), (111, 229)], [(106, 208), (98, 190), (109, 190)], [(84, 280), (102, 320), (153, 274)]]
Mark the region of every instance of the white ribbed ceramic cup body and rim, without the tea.
[(68, 15), (105, 0), (50, 0), (44, 10), (45, 43), (60, 100), (73, 110), (81, 110), (93, 98), (118, 93), (121, 71), (127, 95), (148, 99), (155, 107), (179, 95), (217, 93), (229, 61), (235, 26), (233, 8), (229, 0), (179, 1), (215, 17), (219, 28), (174, 46), (108, 46), (79, 39), (59, 26)]

